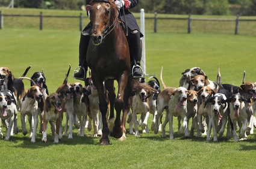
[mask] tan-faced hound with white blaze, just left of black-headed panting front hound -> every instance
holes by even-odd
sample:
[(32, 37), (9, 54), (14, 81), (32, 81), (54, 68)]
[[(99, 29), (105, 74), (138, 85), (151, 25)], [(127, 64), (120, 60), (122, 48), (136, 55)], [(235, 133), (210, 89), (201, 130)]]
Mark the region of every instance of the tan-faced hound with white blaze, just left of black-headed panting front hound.
[[(207, 104), (208, 99), (213, 97), (215, 94), (215, 91), (211, 89), (209, 86), (203, 86), (199, 91), (198, 91), (198, 96), (199, 96), (199, 105), (198, 105), (198, 113), (196, 116), (196, 119), (198, 121), (199, 125), (199, 131), (201, 131), (203, 134), (206, 135), (206, 128), (203, 128), (203, 122), (202, 122), (202, 117), (204, 116), (205, 118), (205, 125), (208, 126), (208, 129), (211, 129), (211, 123), (209, 122), (209, 118), (211, 116), (211, 105)], [(201, 134), (197, 134), (196, 137), (201, 137)]]

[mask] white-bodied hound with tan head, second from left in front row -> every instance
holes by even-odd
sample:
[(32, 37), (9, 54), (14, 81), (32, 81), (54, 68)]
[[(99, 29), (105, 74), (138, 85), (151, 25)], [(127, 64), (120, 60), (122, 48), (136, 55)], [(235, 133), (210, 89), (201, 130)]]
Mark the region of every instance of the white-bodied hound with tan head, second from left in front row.
[[(30, 123), (30, 138), (31, 142), (36, 142), (36, 132), (38, 126), (38, 116), (39, 116), (39, 103), (43, 102), (43, 93), (42, 88), (39, 86), (33, 85), (28, 90), (27, 94), (24, 96), (20, 108), (20, 120), (23, 129), (23, 135), (28, 133), (26, 129), (25, 116), (28, 115), (28, 121)], [(33, 119), (32, 119), (33, 118)], [(32, 124), (34, 120), (34, 124)]]

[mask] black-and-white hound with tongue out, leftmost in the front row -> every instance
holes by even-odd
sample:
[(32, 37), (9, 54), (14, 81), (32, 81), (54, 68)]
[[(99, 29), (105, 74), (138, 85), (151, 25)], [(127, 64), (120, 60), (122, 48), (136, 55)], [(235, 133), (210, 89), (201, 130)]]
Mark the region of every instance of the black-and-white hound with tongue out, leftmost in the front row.
[[(4, 140), (10, 140), (10, 135), (13, 135), (13, 130), (17, 133), (17, 108), (14, 104), (14, 96), (10, 90), (3, 90), (0, 92), (0, 117), (3, 125), (6, 128), (6, 135)], [(8, 125), (5, 123), (7, 120)], [(0, 126), (0, 138), (4, 135), (1, 132)]]

